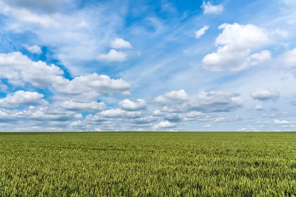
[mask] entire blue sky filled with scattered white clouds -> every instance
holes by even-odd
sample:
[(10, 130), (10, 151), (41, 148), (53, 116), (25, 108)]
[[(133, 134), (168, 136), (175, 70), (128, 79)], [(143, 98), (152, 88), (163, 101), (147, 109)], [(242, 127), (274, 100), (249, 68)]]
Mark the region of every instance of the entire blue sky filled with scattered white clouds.
[(296, 131), (296, 0), (0, 0), (0, 131)]

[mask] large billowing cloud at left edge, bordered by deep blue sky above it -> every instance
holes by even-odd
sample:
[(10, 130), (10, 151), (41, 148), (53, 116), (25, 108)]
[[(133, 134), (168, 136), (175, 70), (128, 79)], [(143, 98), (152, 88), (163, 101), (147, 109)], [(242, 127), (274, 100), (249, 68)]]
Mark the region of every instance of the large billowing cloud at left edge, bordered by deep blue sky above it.
[(45, 62), (34, 62), (20, 52), (0, 54), (0, 78), (8, 80), (14, 86), (29, 82), (33, 86), (43, 88), (64, 74), (60, 67), (46, 65)]

